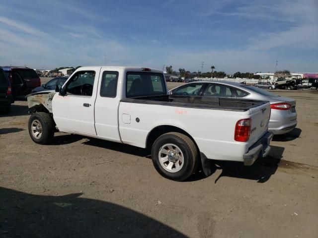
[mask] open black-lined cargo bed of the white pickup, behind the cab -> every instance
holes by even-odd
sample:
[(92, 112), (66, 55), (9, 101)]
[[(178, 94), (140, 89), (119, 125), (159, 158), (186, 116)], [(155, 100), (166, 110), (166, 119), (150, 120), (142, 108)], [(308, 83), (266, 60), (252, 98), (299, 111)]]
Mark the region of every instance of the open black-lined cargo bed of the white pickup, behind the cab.
[(264, 105), (267, 101), (246, 100), (237, 98), (158, 95), (122, 99), (121, 102), (156, 104), (171, 107), (202, 108), (226, 111), (245, 112), (251, 108)]

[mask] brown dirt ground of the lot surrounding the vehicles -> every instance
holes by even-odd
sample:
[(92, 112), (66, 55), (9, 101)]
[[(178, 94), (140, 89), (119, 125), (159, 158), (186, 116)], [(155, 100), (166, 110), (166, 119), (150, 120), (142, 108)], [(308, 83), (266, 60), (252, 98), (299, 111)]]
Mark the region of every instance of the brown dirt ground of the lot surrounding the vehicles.
[(298, 125), (266, 159), (183, 182), (137, 147), (66, 133), (35, 144), (17, 100), (0, 115), (0, 237), (317, 238), (318, 92), (275, 92), (297, 99)]

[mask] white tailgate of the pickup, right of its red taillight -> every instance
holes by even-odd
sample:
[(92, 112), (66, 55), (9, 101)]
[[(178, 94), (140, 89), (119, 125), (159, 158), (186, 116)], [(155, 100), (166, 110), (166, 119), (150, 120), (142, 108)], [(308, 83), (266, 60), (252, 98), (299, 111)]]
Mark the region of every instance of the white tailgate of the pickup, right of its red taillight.
[(248, 143), (255, 143), (268, 130), (270, 117), (270, 103), (266, 103), (256, 108), (251, 108), (251, 133)]

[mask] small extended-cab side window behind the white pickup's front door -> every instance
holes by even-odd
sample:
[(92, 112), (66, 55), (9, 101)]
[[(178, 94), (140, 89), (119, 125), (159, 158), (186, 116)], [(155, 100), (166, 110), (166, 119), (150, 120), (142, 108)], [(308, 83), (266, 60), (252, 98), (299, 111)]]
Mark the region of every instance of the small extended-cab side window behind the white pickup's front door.
[(100, 85), (100, 96), (115, 98), (117, 94), (117, 71), (104, 71)]

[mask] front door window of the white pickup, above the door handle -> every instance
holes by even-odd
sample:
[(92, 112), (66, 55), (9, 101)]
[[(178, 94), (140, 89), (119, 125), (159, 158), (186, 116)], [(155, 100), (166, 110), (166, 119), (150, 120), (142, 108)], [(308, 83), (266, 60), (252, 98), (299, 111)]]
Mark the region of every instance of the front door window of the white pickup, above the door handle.
[(66, 92), (74, 95), (91, 96), (94, 79), (95, 71), (79, 71), (69, 80), (66, 85)]

